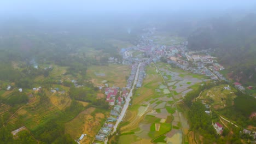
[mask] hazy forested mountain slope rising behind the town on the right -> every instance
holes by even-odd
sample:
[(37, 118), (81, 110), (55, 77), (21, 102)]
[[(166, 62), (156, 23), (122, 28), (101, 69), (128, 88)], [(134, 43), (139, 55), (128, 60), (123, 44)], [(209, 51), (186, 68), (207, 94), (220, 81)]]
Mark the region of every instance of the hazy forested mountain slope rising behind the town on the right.
[(256, 84), (256, 14), (241, 20), (218, 17), (197, 28), (188, 37), (190, 50), (215, 49), (220, 63), (233, 71), (231, 77)]

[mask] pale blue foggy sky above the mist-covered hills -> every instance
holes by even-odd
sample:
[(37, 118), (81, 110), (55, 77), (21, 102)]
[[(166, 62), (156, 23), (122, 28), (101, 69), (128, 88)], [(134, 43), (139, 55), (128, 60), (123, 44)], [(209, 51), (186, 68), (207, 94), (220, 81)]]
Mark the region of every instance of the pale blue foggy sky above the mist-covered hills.
[(211, 13), (226, 9), (253, 9), (254, 1), (238, 0), (1, 0), (0, 17), (58, 17)]

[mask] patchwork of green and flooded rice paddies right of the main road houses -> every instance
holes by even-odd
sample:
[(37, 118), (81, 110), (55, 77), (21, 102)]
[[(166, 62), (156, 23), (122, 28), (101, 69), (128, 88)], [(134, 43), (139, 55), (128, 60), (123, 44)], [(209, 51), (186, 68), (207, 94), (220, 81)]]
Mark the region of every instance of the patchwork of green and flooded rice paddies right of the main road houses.
[[(181, 101), (186, 93), (200, 86), (207, 77), (172, 69), (164, 63), (156, 65), (159, 70), (153, 64), (146, 67), (147, 77), (133, 96), (132, 105), (124, 119), (124, 123), (128, 124), (120, 128), (119, 143), (123, 143), (129, 136), (132, 137), (127, 140), (130, 143), (143, 140), (155, 143), (188, 143), (188, 121), (174, 103)], [(160, 74), (166, 75), (168, 80), (164, 82)], [(145, 104), (148, 105), (146, 111)], [(127, 135), (122, 135), (123, 133)]]

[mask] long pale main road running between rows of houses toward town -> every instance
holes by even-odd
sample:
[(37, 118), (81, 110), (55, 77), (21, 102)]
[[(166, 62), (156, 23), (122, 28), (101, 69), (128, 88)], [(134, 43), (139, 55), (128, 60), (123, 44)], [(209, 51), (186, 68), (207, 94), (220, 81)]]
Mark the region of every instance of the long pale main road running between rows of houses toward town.
[[(139, 67), (141, 67), (141, 63), (138, 64), (138, 67), (137, 67), (137, 72), (136, 72), (136, 75), (135, 75), (135, 79), (133, 81), (133, 85), (132, 85), (132, 88), (131, 88), (131, 91), (130, 93), (128, 94), (127, 98), (126, 98), (126, 101), (125, 101), (125, 104), (124, 104), (124, 107), (123, 107), (123, 110), (121, 111), (118, 119), (117, 119), (117, 122), (115, 123), (114, 127), (113, 127), (113, 131), (111, 134), (114, 134), (115, 131), (117, 131), (117, 127), (118, 127), (118, 124), (122, 121), (124, 115), (125, 115), (125, 112), (126, 110), (128, 109), (129, 107), (129, 104), (130, 104), (130, 100), (131, 100), (131, 97), (132, 97), (132, 91), (137, 83), (137, 79), (138, 79), (138, 74), (139, 74)], [(107, 143), (108, 139), (106, 139), (104, 141), (104, 143)]]

